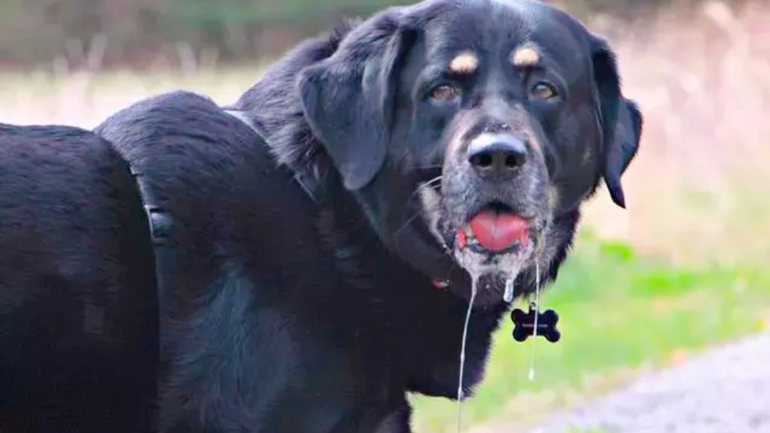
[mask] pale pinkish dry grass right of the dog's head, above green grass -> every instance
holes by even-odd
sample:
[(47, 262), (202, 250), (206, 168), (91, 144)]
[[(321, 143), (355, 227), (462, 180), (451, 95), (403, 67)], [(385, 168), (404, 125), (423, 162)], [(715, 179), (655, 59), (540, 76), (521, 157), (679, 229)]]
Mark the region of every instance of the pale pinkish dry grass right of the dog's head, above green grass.
[(662, 12), (613, 39), (644, 135), (628, 212), (598, 200), (589, 220), (675, 261), (766, 261), (770, 3)]

